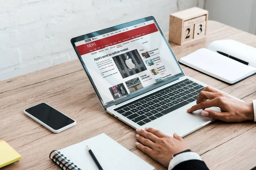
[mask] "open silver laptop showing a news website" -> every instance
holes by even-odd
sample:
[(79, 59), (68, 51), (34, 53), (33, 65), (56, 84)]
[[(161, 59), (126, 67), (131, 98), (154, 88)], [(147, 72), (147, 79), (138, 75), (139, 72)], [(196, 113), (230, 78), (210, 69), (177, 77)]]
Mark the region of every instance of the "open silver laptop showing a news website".
[(185, 76), (153, 16), (71, 43), (102, 107), (127, 125), (185, 136), (213, 121), (186, 112), (207, 85)]

